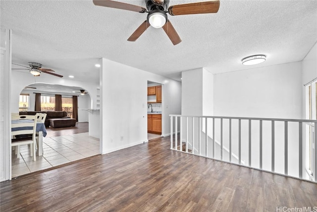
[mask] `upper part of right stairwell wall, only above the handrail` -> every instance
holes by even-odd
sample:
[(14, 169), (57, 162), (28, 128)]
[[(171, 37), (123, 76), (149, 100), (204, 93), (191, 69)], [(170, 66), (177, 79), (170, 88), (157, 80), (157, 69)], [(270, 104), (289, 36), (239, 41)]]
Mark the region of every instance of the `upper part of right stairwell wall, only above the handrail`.
[(214, 115), (301, 119), (301, 62), (214, 75)]

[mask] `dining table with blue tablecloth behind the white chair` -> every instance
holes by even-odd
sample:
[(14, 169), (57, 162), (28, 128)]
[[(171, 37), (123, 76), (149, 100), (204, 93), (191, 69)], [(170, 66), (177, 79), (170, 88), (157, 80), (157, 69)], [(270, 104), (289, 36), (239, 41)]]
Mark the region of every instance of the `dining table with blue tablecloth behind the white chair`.
[[(19, 123), (32, 123), (34, 120), (31, 119), (19, 119), (19, 120), (11, 120), (12, 124), (19, 124)], [(11, 128), (11, 131), (18, 131), (18, 130), (32, 130), (32, 127), (17, 127)], [(36, 123), (36, 132), (39, 133), (39, 156), (43, 155), (43, 137), (46, 137), (47, 131), (45, 128), (44, 123), (38, 122)]]

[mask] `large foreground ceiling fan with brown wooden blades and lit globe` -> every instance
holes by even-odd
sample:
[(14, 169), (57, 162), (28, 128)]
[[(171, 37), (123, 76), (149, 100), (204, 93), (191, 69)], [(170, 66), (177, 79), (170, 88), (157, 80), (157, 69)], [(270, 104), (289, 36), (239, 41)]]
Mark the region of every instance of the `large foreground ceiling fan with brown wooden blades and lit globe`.
[(97, 6), (106, 6), (117, 9), (125, 9), (140, 13), (148, 13), (147, 20), (145, 20), (133, 34), (128, 38), (128, 41), (136, 41), (145, 30), (151, 25), (155, 28), (162, 27), (171, 42), (176, 45), (182, 40), (178, 36), (173, 25), (167, 18), (170, 15), (187, 15), (187, 14), (202, 14), (202, 13), (216, 13), (219, 9), (219, 0), (211, 0), (205, 2), (177, 4), (168, 7), (169, 0), (145, 0), (146, 8), (133, 4), (113, 1), (113, 0), (93, 0)]

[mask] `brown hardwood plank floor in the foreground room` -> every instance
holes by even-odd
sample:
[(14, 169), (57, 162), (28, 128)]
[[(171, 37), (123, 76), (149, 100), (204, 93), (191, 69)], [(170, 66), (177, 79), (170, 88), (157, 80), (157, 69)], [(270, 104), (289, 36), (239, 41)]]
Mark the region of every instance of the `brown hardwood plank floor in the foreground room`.
[(0, 183), (1, 211), (260, 212), (317, 207), (317, 184), (169, 149), (169, 137)]

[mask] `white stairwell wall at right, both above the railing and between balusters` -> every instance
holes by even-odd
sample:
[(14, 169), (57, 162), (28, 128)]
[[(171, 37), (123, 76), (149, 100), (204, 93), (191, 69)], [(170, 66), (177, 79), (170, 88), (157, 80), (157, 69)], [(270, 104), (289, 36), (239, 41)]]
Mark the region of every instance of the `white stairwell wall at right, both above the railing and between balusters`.
[[(288, 63), (214, 75), (214, 116), (302, 118), (302, 63)], [(216, 121), (215, 126), (220, 126)], [(289, 124), (289, 174), (298, 176), (298, 124)], [(228, 123), (224, 123), (228, 147)], [(242, 160), (248, 161), (248, 122), (241, 121)], [(220, 141), (219, 127), (215, 139)], [(238, 154), (238, 121), (232, 121), (232, 151)], [(271, 125), (263, 123), (263, 168), (270, 170)], [(259, 167), (259, 121), (252, 123), (252, 161)], [(275, 123), (275, 171), (284, 172), (284, 125)], [(248, 163), (246, 163), (248, 164)]]

